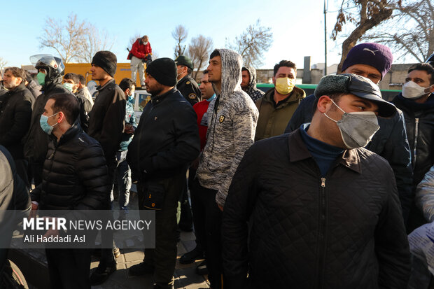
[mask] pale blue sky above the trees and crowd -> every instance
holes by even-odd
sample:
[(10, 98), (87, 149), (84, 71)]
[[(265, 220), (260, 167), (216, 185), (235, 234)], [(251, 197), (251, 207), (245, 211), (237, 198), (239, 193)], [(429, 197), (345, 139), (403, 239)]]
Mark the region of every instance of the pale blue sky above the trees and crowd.
[[(328, 3), (328, 36), (336, 20), (337, 0)], [(40, 48), (45, 20), (51, 17), (66, 22), (75, 13), (78, 20), (94, 24), (115, 39), (111, 51), (118, 62), (127, 60), (127, 46), (136, 34), (148, 35), (158, 57), (174, 57), (176, 41), (172, 31), (178, 24), (192, 37), (211, 37), (214, 48), (225, 48), (226, 39), (235, 39), (256, 20), (271, 27), (273, 42), (263, 55), (262, 69), (272, 69), (282, 59), (303, 67), (304, 56), (311, 64), (324, 62), (324, 2), (321, 0), (219, 0), (219, 1), (6, 1), (0, 17), (0, 57), (6, 66), (30, 64), (29, 56), (56, 55), (52, 48)], [(340, 60), (339, 42), (328, 37), (328, 65)]]

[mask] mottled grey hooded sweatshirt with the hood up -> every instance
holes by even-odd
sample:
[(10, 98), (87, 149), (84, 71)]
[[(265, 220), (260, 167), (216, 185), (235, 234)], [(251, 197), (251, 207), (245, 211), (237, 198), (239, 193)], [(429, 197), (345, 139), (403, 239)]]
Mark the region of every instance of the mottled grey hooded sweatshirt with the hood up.
[(217, 190), (216, 202), (224, 206), (244, 152), (255, 139), (258, 108), (241, 90), (241, 56), (217, 49), (221, 56), (221, 92), (213, 83), (216, 99), (208, 107), (207, 145), (200, 157), (197, 178), (204, 188)]

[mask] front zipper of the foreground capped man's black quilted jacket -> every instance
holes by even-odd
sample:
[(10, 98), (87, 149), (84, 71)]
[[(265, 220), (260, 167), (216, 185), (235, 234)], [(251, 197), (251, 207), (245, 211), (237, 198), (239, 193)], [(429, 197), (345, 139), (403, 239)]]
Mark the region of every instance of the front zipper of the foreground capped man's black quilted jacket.
[(325, 178), (321, 178), (320, 212), (318, 228), (318, 283), (316, 288), (322, 288), (323, 268), (325, 260)]

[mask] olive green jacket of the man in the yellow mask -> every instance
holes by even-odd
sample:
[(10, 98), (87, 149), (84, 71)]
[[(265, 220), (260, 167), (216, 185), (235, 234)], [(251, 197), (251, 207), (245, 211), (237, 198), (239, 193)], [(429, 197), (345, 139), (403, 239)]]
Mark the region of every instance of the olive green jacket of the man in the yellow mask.
[(283, 134), (298, 104), (306, 97), (306, 92), (301, 88), (294, 87), (290, 97), (277, 107), (274, 107), (273, 97), (274, 87), (256, 101), (259, 119), (256, 126), (255, 141)]

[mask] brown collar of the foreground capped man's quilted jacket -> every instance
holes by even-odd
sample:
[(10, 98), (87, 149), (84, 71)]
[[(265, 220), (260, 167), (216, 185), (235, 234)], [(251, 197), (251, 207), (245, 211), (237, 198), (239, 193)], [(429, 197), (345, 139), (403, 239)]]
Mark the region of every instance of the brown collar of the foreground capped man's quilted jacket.
[[(307, 150), (304, 141), (302, 140), (300, 128), (296, 129), (292, 134), (289, 134), (288, 147), (290, 162), (298, 162), (300, 160), (305, 160), (309, 157), (312, 157), (309, 153), (309, 150)], [(338, 163), (351, 169), (352, 171), (362, 174), (358, 149), (344, 150), (344, 153), (342, 154), (342, 157), (339, 159)]]

